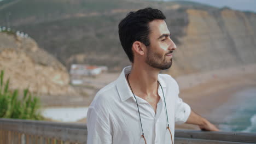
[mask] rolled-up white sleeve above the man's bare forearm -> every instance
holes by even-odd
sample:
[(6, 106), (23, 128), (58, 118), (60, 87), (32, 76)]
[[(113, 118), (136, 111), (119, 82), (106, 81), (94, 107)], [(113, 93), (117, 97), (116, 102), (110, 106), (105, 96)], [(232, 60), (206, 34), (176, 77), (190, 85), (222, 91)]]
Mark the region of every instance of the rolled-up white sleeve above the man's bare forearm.
[(177, 96), (175, 106), (175, 123), (182, 124), (187, 122), (190, 112), (190, 106), (184, 103), (183, 100)]

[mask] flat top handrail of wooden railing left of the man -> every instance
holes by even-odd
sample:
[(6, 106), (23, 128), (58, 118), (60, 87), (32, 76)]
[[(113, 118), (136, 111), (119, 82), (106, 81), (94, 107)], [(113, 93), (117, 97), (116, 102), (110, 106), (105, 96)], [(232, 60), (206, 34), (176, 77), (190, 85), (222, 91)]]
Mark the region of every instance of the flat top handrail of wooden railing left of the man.
[(0, 118), (0, 130), (16, 131), (26, 135), (42, 136), (77, 143), (86, 143), (87, 137), (86, 124), (76, 123)]

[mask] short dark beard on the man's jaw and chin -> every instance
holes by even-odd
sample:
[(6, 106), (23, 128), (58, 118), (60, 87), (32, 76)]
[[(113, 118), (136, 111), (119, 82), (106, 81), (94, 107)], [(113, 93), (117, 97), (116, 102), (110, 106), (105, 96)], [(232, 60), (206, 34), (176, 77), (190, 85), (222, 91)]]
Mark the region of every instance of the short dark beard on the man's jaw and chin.
[(147, 51), (147, 58), (146, 58), (146, 63), (148, 65), (150, 65), (153, 68), (157, 68), (160, 70), (165, 70), (168, 69), (172, 66), (172, 58), (170, 59), (170, 61), (168, 61), (168, 59), (166, 59), (166, 55), (170, 52), (168, 52), (166, 55), (164, 55), (164, 58), (161, 54), (159, 53), (154, 53), (150, 46), (147, 47), (148, 51)]

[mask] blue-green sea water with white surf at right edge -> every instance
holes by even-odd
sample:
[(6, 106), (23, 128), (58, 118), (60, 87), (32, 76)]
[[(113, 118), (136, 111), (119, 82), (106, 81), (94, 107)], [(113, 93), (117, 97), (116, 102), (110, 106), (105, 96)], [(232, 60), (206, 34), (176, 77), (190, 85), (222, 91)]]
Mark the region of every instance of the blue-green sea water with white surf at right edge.
[(219, 124), (222, 131), (256, 133), (256, 88), (247, 88), (234, 95), (236, 104), (224, 121)]

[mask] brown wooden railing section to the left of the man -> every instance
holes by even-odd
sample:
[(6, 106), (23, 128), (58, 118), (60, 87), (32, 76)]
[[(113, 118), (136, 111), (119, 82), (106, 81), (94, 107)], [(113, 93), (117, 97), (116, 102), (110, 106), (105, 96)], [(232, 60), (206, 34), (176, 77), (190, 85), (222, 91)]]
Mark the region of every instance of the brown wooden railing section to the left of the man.
[(85, 124), (0, 118), (0, 144), (86, 143)]

